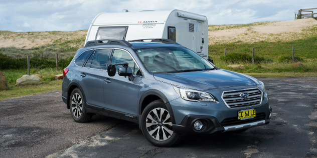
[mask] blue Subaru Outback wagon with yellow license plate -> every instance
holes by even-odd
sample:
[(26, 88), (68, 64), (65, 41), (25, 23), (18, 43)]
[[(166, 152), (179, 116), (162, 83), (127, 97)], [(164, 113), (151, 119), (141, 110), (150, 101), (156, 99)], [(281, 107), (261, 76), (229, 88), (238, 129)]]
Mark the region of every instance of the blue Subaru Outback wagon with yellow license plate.
[(62, 89), (75, 121), (94, 114), (132, 121), (155, 146), (245, 131), (271, 116), (263, 82), (170, 39), (88, 41), (64, 69)]

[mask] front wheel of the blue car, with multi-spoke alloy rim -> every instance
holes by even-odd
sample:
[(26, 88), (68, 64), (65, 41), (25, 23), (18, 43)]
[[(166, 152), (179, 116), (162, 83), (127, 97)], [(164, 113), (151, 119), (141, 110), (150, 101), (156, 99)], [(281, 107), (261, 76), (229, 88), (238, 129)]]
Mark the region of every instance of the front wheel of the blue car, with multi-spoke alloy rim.
[(170, 112), (162, 100), (152, 101), (144, 108), (141, 129), (147, 141), (155, 146), (172, 146), (183, 138), (173, 131)]

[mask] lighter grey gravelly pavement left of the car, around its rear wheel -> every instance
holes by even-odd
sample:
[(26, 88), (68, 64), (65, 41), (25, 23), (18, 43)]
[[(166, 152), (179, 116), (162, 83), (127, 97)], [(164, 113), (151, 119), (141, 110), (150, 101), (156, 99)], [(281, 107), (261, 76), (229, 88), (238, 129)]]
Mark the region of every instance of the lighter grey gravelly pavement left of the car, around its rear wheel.
[(44, 157), (120, 122), (101, 115), (75, 122), (61, 90), (0, 101), (0, 108), (0, 157)]

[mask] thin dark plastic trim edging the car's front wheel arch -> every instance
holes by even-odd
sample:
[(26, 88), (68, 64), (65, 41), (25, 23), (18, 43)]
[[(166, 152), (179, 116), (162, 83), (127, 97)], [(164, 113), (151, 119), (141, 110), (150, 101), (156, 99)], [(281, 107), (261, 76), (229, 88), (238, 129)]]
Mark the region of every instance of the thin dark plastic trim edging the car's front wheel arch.
[[(168, 98), (163, 94), (163, 92), (159, 91), (159, 90), (156, 90), (156, 89), (149, 89), (149, 90), (146, 90), (142, 96), (140, 97), (140, 100), (139, 100), (139, 104), (138, 104), (138, 114), (139, 116), (142, 114), (142, 102), (143, 102), (143, 99), (148, 96), (148, 95), (156, 95), (158, 97), (160, 97), (163, 102), (165, 103), (166, 107), (168, 108), (169, 112), (170, 112), (170, 115), (171, 115), (171, 121), (173, 124), (175, 124), (175, 118), (174, 118), (174, 113), (173, 113), (173, 109), (172, 109), (172, 106), (170, 104), (170, 101), (168, 100)], [(141, 118), (141, 117), (139, 117)], [(139, 119), (141, 120), (141, 119)], [(139, 123), (140, 124), (140, 123)]]

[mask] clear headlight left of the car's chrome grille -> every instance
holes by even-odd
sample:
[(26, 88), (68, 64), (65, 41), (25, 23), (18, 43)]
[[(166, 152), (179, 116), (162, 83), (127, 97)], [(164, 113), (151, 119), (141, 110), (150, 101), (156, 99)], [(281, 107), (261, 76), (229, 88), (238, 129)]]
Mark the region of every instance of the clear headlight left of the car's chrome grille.
[(216, 101), (208, 92), (174, 86), (175, 91), (185, 100), (190, 101)]

